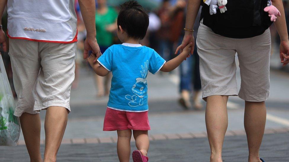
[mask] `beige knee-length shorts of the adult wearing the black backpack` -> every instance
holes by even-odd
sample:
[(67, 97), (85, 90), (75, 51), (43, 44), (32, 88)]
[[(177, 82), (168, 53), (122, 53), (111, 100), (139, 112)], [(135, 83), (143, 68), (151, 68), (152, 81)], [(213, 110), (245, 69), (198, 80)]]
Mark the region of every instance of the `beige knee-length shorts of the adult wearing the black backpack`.
[[(197, 37), (203, 99), (212, 95), (237, 96), (261, 102), (269, 97), (271, 35), (245, 39), (215, 34), (202, 22)], [(235, 55), (238, 55), (241, 88), (238, 94)]]

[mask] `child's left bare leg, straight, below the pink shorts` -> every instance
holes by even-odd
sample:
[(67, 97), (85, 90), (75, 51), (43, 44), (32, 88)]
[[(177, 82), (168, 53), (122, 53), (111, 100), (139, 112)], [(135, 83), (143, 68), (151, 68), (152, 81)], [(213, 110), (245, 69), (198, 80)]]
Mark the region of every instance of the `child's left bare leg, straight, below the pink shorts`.
[(131, 130), (118, 130), (117, 152), (120, 162), (129, 162), (131, 154)]

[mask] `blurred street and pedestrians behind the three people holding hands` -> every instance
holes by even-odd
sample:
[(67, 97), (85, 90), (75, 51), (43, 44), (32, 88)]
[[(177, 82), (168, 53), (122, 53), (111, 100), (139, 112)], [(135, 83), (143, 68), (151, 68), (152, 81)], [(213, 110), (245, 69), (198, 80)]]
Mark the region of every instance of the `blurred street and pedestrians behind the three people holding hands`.
[[(96, 0), (97, 41), (103, 51), (110, 45), (121, 43), (116, 37), (115, 23), (118, 5), (123, 0)], [(186, 1), (184, 0), (139, 0), (150, 13), (150, 26), (142, 45), (155, 49), (163, 58), (174, 57), (176, 47), (183, 38)], [(289, 1), (283, 1), (286, 21), (289, 23)], [(76, 79), (71, 91), (71, 113), (58, 161), (118, 161), (116, 137), (113, 132), (102, 131), (108, 101), (110, 78), (94, 74), (82, 59), (85, 27), (78, 14), (78, 51)], [(282, 15), (283, 16), (283, 15)], [(6, 29), (3, 17), (3, 29)], [(289, 24), (287, 25), (289, 27)], [(196, 25), (195, 25), (196, 27)], [(197, 26), (198, 27), (198, 26)], [(260, 156), (265, 161), (289, 161), (289, 66), (282, 67), (279, 58), (280, 38), (272, 25), (271, 88), (266, 102), (266, 131)], [(195, 33), (196, 34), (196, 33)], [(1, 51), (7, 74), (13, 89), (9, 56)], [(200, 96), (197, 54), (182, 63), (171, 73), (149, 74), (149, 131), (151, 146), (150, 161), (209, 161), (210, 149), (206, 138), (205, 102)], [(236, 63), (238, 64), (237, 57)], [(197, 64), (198, 65), (198, 64)], [(237, 69), (240, 88), (240, 71)], [(15, 94), (16, 97), (16, 94)], [(224, 161), (247, 161), (247, 141), (243, 126), (244, 101), (229, 97), (229, 125), (224, 142)], [(44, 117), (41, 113), (42, 149), (45, 139)], [(135, 149), (134, 143), (131, 143)], [(19, 146), (0, 147), (0, 161), (29, 161), (23, 135)], [(43, 150), (42, 150), (43, 152)], [(21, 160), (20, 160), (21, 159)]]

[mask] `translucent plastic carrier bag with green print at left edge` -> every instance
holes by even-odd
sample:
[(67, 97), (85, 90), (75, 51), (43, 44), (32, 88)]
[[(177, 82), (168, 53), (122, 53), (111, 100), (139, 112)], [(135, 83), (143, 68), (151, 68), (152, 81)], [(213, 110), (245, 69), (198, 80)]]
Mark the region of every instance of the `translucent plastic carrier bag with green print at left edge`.
[(14, 115), (15, 102), (0, 54), (0, 146), (16, 146), (20, 135), (19, 118)]

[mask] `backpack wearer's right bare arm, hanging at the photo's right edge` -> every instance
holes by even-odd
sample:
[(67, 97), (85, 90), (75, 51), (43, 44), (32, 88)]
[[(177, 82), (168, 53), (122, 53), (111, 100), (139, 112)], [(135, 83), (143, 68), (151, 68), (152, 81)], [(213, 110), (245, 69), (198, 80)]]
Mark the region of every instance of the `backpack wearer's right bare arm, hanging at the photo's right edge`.
[(280, 11), (281, 17), (278, 17), (274, 25), (280, 35), (280, 59), (283, 66), (289, 63), (289, 40), (285, 20), (285, 12), (282, 0), (272, 0), (272, 4)]

